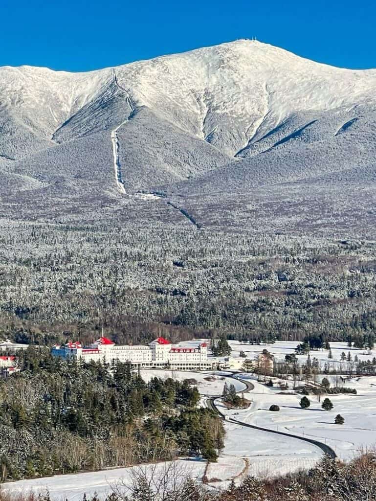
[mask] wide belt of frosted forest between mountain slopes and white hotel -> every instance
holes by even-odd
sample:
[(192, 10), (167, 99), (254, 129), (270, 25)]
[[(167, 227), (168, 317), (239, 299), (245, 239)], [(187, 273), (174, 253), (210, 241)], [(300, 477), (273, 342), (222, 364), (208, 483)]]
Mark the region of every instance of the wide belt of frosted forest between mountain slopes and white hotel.
[(376, 328), (376, 244), (361, 240), (14, 222), (0, 237), (0, 337), (354, 340)]

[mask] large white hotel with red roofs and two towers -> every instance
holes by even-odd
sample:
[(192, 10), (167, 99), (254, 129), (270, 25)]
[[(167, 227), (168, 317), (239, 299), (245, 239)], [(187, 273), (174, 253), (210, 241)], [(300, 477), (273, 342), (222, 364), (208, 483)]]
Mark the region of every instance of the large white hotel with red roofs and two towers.
[(52, 354), (63, 359), (75, 358), (82, 361), (128, 362), (132, 367), (169, 367), (174, 369), (212, 369), (214, 361), (207, 359), (207, 344), (197, 346), (173, 346), (159, 337), (149, 345), (116, 345), (101, 337), (88, 347), (80, 342), (54, 346)]

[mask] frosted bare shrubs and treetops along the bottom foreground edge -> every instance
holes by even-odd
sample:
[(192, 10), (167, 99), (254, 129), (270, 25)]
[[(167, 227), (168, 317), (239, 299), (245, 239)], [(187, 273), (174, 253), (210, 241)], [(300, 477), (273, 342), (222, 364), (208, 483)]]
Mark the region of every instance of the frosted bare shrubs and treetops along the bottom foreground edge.
[[(179, 473), (177, 475), (177, 473)], [(367, 453), (345, 464), (324, 458), (309, 471), (274, 479), (248, 477), (226, 489), (210, 489), (165, 468), (162, 476), (148, 481), (135, 471), (133, 486), (121, 484), (107, 496), (82, 495), (82, 501), (373, 501), (376, 499), (376, 457)], [(6, 492), (2, 501), (56, 501), (48, 493), (13, 497)]]

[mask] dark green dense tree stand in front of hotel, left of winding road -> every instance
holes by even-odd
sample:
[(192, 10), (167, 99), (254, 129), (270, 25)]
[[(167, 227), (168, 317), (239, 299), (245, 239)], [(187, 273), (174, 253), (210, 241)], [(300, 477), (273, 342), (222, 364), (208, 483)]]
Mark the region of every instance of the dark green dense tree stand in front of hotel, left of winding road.
[(111, 368), (21, 353), (22, 372), (0, 380), (0, 480), (44, 476), (177, 455), (216, 460), (224, 430), (196, 408), (187, 381), (145, 383), (127, 364)]

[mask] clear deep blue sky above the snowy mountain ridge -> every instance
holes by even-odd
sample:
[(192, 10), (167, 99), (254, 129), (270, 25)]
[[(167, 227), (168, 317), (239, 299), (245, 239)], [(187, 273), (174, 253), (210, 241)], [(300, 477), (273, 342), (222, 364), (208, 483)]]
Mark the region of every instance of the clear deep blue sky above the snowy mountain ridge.
[(376, 68), (376, 3), (0, 0), (0, 66), (86, 71), (239, 38)]

